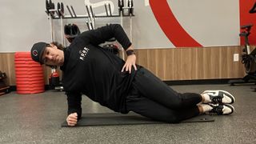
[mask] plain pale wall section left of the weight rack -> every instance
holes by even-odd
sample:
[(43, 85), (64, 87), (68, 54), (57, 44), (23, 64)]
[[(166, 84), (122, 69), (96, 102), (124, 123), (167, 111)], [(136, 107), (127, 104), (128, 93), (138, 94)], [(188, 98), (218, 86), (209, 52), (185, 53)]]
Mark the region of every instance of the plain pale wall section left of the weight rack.
[(49, 41), (45, 1), (0, 1), (0, 52), (30, 50), (37, 41)]

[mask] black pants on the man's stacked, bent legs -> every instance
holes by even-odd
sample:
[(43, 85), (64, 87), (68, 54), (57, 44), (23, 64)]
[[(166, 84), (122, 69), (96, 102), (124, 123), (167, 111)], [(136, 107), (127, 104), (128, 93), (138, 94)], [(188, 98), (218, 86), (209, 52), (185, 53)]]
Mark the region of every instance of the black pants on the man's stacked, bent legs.
[(126, 98), (126, 109), (163, 122), (181, 122), (199, 114), (200, 94), (180, 94), (167, 86), (149, 70), (141, 68), (134, 77)]

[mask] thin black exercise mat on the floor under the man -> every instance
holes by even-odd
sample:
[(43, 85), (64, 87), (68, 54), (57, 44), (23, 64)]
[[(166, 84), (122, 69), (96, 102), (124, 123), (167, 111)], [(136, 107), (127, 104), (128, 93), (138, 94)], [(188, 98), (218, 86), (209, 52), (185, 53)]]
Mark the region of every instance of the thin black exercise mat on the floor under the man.
[[(197, 117), (187, 119), (182, 122), (214, 122), (214, 118), (209, 115), (198, 115)], [(114, 125), (140, 125), (140, 124), (156, 124), (165, 123), (154, 121), (150, 118), (143, 117), (138, 114), (119, 114), (119, 113), (94, 113), (82, 114), (82, 118), (76, 126), (114, 126)], [(62, 123), (62, 127), (67, 127), (66, 121)]]

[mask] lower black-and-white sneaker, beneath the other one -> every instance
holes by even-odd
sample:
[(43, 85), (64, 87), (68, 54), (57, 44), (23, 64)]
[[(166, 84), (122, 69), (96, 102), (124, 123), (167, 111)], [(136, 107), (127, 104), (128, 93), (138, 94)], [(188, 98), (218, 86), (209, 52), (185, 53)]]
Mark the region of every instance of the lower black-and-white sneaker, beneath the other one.
[(209, 114), (218, 114), (218, 115), (229, 115), (234, 113), (234, 106), (229, 104), (211, 104), (208, 103), (206, 105), (211, 106), (213, 109), (210, 110)]

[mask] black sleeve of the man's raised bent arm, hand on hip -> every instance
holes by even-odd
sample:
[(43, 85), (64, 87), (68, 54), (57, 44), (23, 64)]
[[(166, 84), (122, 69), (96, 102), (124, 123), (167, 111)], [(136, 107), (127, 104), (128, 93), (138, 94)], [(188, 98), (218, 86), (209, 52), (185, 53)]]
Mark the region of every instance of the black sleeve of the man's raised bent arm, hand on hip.
[(82, 41), (89, 42), (96, 46), (106, 42), (110, 38), (116, 38), (125, 50), (131, 45), (126, 32), (119, 24), (110, 24), (99, 27), (96, 30), (85, 31), (79, 35), (79, 38), (82, 38)]

